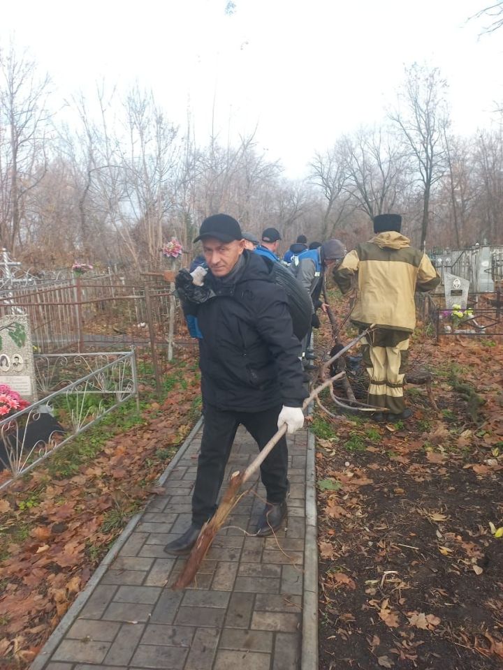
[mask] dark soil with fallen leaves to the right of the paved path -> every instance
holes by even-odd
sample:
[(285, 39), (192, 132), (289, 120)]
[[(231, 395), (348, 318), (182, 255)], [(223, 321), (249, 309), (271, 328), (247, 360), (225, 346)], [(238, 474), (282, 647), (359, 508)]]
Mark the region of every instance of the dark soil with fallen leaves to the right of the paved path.
[(403, 424), (314, 416), (321, 670), (502, 667), (503, 345), (414, 350), (438, 412), (409, 386)]

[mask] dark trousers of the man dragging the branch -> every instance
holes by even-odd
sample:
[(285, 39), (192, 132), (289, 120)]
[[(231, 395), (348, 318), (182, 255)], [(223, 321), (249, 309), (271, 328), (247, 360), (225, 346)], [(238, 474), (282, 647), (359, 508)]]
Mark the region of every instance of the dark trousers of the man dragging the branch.
[[(205, 405), (205, 422), (194, 493), (192, 522), (195, 526), (211, 519), (217, 509), (217, 498), (238, 426), (245, 426), (263, 449), (277, 431), (277, 417), (282, 406), (262, 412), (228, 412)], [(261, 465), (261, 479), (268, 502), (283, 502), (288, 486), (288, 449), (283, 436)]]

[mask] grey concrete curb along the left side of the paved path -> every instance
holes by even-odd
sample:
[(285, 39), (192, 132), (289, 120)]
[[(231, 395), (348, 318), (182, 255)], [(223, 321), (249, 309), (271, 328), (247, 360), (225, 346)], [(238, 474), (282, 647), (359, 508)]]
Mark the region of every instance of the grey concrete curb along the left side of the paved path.
[[(178, 461), (180, 461), (184, 453), (189, 448), (189, 445), (194, 439), (194, 435), (196, 435), (198, 430), (201, 429), (202, 424), (203, 424), (203, 417), (201, 416), (197, 420), (194, 428), (190, 431), (189, 435), (187, 435), (187, 438), (185, 438), (182, 446), (180, 447), (180, 449), (178, 449), (176, 455), (168, 464), (166, 470), (164, 470), (162, 475), (157, 480), (157, 484), (159, 486), (162, 486), (164, 482), (166, 482), (169, 473), (171, 472), (171, 470), (175, 469)], [(89, 600), (89, 597), (91, 597), (94, 588), (98, 585), (101, 577), (103, 576), (103, 574), (105, 574), (110, 563), (112, 563), (112, 561), (115, 560), (117, 553), (119, 553), (119, 551), (122, 549), (122, 546), (126, 543), (126, 539), (128, 539), (131, 533), (133, 533), (133, 530), (136, 528), (138, 521), (140, 521), (143, 512), (145, 512), (145, 509), (142, 512), (138, 512), (138, 514), (135, 514), (134, 516), (131, 517), (129, 523), (126, 525), (126, 528), (124, 528), (119, 537), (117, 537), (114, 544), (112, 544), (112, 546), (108, 550), (108, 553), (106, 554), (105, 558), (103, 558), (99, 566), (92, 574), (92, 577), (87, 582), (84, 590), (82, 590), (79, 593), (79, 595), (75, 598), (70, 609), (68, 609), (65, 616), (61, 619), (59, 624), (54, 628), (48, 641), (44, 644), (43, 648), (38, 652), (38, 655), (36, 656), (34, 662), (30, 666), (30, 670), (42, 670), (45, 664), (48, 662), (48, 660), (50, 660), (50, 656), (61, 642), (61, 639), (66, 634), (66, 631), (71, 626), (73, 621), (78, 618), (80, 611)]]

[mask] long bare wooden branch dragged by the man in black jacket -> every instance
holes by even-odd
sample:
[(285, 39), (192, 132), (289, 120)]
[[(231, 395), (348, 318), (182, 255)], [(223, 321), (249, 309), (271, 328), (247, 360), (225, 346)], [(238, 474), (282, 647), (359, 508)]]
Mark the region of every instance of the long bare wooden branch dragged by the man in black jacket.
[[(347, 352), (347, 350), (351, 349), (351, 347), (358, 343), (360, 339), (363, 338), (368, 332), (369, 330), (367, 329), (358, 335), (358, 337), (351, 340), (347, 346), (337, 352), (337, 354), (327, 362), (327, 365), (330, 365), (345, 352)], [(326, 389), (332, 385), (333, 382), (342, 379), (344, 374), (344, 372), (337, 373), (337, 375), (334, 375), (330, 379), (324, 381), (321, 385), (319, 385), (319, 387), (316, 387), (316, 389), (311, 392), (309, 397), (305, 399), (304, 403), (302, 404), (302, 409), (307, 408), (307, 406), (312, 403), (312, 401), (323, 391), (323, 389)], [(222, 498), (217, 512), (214, 513), (212, 519), (210, 519), (208, 523), (205, 523), (203, 528), (201, 528), (201, 533), (199, 533), (199, 537), (196, 541), (196, 544), (194, 544), (189, 558), (187, 559), (187, 563), (185, 564), (183, 572), (180, 574), (180, 576), (178, 576), (177, 581), (175, 581), (172, 586), (174, 590), (187, 588), (187, 586), (189, 586), (189, 584), (192, 582), (203, 561), (203, 558), (206, 556), (208, 549), (210, 549), (215, 535), (217, 535), (220, 528), (224, 525), (228, 515), (231, 514), (232, 510), (238, 504), (242, 496), (247, 493), (247, 491), (240, 493), (242, 484), (245, 484), (247, 479), (249, 479), (251, 475), (254, 475), (254, 473), (261, 466), (261, 463), (267, 458), (273, 447), (277, 445), (277, 442), (281, 440), (285, 433), (286, 425), (283, 425), (279, 431), (277, 431), (277, 433), (272, 435), (272, 438), (269, 440), (269, 442), (261, 450), (256, 459), (254, 459), (254, 461), (249, 464), (244, 472), (240, 472), (239, 470), (237, 472), (233, 472), (231, 479), (229, 480), (228, 489), (224, 494), (224, 498)]]

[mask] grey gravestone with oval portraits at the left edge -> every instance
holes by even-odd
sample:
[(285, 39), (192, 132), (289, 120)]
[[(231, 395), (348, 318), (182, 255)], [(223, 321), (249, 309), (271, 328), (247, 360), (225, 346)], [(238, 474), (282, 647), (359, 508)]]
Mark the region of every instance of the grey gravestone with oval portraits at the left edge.
[(37, 399), (33, 345), (24, 314), (0, 318), (0, 384), (10, 386), (30, 403)]

